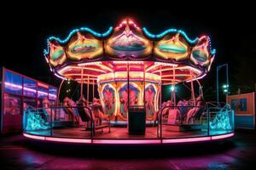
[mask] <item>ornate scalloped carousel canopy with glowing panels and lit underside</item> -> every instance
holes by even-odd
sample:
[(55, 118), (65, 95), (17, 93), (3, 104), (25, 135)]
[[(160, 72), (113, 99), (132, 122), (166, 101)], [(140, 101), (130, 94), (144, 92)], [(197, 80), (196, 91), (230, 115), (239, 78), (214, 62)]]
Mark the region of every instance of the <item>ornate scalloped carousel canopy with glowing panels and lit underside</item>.
[(215, 54), (207, 36), (190, 39), (177, 29), (154, 35), (130, 19), (104, 33), (75, 29), (47, 44), (44, 55), (55, 76), (90, 83), (127, 80), (128, 68), (138, 81), (189, 82), (207, 75)]

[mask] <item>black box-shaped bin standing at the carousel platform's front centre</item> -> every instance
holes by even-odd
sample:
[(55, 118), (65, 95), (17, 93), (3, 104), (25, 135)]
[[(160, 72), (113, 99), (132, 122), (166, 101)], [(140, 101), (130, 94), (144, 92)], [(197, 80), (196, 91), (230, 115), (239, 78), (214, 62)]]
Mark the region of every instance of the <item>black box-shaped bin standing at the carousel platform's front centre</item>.
[(128, 112), (128, 130), (130, 134), (145, 134), (146, 110), (144, 106), (131, 106)]

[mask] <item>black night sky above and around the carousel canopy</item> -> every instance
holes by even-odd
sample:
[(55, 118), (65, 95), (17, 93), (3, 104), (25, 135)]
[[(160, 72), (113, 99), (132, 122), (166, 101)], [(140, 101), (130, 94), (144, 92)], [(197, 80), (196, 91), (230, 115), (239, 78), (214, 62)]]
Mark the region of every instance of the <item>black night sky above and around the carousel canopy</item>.
[[(256, 33), (253, 9), (249, 5), (248, 8), (243, 5), (208, 8), (209, 5), (205, 5), (187, 8), (175, 5), (154, 7), (154, 4), (149, 8), (129, 5), (126, 8), (98, 8), (83, 4), (66, 4), (57, 8), (40, 3), (35, 7), (26, 4), (22, 7), (9, 6), (7, 12), (1, 12), (4, 42), (1, 66), (58, 86), (60, 80), (49, 71), (44, 59), (47, 37), (65, 38), (69, 31), (82, 26), (103, 32), (130, 17), (137, 26), (145, 26), (155, 34), (177, 28), (191, 38), (204, 34), (211, 37), (212, 48), (216, 48), (217, 55), (211, 72), (201, 81), (205, 95), (211, 97), (214, 94), (216, 66), (224, 63), (230, 66), (231, 94), (236, 94), (238, 88), (241, 92), (254, 91)], [(220, 74), (223, 76), (224, 71)], [(220, 77), (220, 83), (224, 83), (223, 77)]]

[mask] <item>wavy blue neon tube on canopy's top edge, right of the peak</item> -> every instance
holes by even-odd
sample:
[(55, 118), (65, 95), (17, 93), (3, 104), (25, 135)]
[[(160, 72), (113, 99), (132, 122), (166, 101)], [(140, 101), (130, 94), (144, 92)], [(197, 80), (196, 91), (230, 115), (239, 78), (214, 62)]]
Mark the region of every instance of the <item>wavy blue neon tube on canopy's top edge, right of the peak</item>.
[(169, 29), (169, 30), (166, 30), (166, 31), (163, 31), (162, 33), (160, 34), (157, 34), (157, 35), (154, 35), (152, 33), (150, 33), (147, 28), (143, 27), (143, 31), (145, 32), (145, 34), (148, 36), (148, 37), (151, 37), (151, 38), (161, 38), (161, 37), (164, 37), (166, 34), (168, 33), (180, 33), (181, 35), (183, 35), (183, 37), (190, 43), (195, 43), (198, 41), (198, 37), (196, 37), (194, 40), (190, 39), (187, 34), (182, 31), (182, 30), (177, 30), (177, 29)]

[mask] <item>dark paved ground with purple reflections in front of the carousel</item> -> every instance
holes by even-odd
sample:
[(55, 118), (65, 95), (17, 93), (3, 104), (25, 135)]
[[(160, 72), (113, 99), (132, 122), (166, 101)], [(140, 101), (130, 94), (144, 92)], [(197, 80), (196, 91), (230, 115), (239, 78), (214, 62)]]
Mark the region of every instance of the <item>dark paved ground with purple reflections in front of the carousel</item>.
[[(239, 131), (211, 144), (81, 146), (31, 143), (0, 137), (0, 169), (255, 169), (256, 133)], [(254, 167), (253, 167), (254, 166)]]

